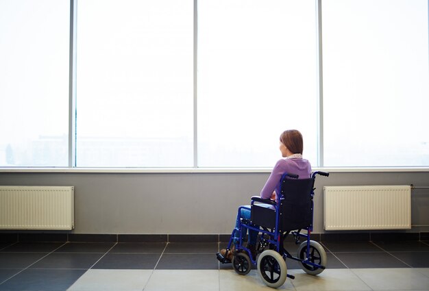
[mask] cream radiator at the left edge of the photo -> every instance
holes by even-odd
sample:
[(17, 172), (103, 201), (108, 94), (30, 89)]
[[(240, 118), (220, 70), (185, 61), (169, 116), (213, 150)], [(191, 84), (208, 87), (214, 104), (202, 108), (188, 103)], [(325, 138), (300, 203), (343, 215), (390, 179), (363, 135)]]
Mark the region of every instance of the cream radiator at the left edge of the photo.
[(0, 229), (70, 230), (73, 186), (0, 186)]

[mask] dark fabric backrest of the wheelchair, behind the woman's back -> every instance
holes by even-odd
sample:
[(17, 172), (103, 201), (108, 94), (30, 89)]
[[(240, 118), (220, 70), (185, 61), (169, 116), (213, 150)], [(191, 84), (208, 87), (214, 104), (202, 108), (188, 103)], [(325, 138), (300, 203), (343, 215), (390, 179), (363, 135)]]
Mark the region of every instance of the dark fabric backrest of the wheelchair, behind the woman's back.
[(279, 205), (279, 229), (281, 231), (312, 227), (314, 185), (314, 177), (309, 179), (282, 178)]

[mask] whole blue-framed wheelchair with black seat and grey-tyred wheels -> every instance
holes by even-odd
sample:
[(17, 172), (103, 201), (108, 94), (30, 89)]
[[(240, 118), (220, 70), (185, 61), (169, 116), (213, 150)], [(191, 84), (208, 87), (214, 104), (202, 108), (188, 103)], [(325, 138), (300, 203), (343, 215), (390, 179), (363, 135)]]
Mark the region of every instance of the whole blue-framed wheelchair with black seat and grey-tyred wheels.
[[(239, 275), (247, 275), (252, 266), (256, 266), (262, 281), (271, 288), (282, 286), (287, 277), (295, 279), (293, 275), (287, 274), (286, 259), (300, 262), (301, 268), (310, 275), (323, 272), (326, 268), (326, 251), (321, 244), (310, 240), (316, 175), (328, 177), (329, 173), (318, 171), (312, 173), (309, 179), (298, 179), (298, 175), (284, 173), (280, 189), (276, 189), (276, 192), (280, 190), (280, 203), (254, 196), (250, 207), (239, 207), (238, 227), (232, 231), (225, 256), (217, 253), (217, 259), (222, 264), (232, 263)], [(242, 208), (251, 211), (250, 220), (240, 218)], [(251, 251), (243, 246), (243, 227), (258, 231), (255, 259)], [(301, 233), (303, 229), (306, 233)], [(297, 257), (284, 249), (284, 241), (289, 234), (295, 239), (295, 244), (299, 244)], [(227, 259), (228, 253), (237, 237), (239, 242), (230, 261)], [(301, 242), (302, 238), (305, 241)]]

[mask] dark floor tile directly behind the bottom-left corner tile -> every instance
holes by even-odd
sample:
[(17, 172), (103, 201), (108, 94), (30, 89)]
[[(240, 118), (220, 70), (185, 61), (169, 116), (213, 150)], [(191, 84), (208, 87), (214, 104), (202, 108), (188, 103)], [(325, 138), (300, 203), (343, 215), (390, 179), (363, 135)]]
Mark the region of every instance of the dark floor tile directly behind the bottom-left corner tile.
[(51, 253), (30, 268), (88, 269), (102, 253)]

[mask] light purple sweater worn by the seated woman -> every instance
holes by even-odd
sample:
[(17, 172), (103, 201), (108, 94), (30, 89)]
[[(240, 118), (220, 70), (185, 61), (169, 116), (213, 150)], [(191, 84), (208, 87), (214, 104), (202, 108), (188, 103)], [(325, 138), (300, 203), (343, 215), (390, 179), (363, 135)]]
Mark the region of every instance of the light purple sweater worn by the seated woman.
[[(311, 165), (308, 160), (302, 158), (293, 158), (293, 159), (282, 159), (278, 160), (275, 163), (273, 171), (267, 182), (265, 183), (264, 188), (260, 192), (260, 197), (262, 199), (271, 198), (274, 190), (280, 186), (280, 179), (284, 173), (291, 173), (299, 175), (298, 179), (308, 179), (311, 176)], [(275, 191), (275, 201), (278, 201), (278, 191)]]

